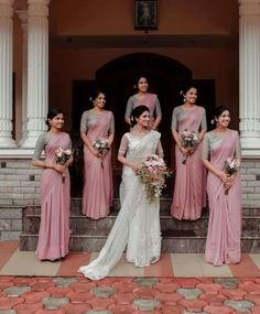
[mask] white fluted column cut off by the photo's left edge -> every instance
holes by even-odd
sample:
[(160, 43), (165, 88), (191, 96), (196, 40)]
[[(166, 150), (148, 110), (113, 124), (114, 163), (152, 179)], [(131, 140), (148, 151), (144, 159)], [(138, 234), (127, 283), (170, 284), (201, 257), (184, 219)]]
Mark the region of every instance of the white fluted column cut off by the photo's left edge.
[(17, 145), (12, 139), (13, 2), (0, 0), (0, 148)]

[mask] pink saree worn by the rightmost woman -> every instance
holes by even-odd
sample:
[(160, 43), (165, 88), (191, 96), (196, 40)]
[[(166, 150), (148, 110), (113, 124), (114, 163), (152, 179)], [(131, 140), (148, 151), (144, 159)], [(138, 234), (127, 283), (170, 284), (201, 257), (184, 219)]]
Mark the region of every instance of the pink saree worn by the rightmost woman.
[[(212, 151), (210, 163), (218, 170), (224, 169), (227, 158), (234, 158), (238, 143), (238, 132), (229, 130), (221, 144)], [(207, 194), (209, 221), (205, 261), (215, 266), (238, 263), (241, 258), (241, 178), (237, 174), (228, 195), (221, 180), (208, 172)]]

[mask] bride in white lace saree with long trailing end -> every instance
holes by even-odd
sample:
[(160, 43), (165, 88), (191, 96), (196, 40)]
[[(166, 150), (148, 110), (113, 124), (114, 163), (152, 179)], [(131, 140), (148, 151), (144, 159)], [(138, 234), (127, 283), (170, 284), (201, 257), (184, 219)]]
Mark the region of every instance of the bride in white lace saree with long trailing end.
[(78, 272), (91, 280), (108, 275), (127, 247), (127, 260), (136, 267), (154, 263), (161, 252), (160, 203), (150, 203), (145, 186), (136, 175), (138, 164), (148, 155), (163, 156), (161, 134), (149, 129), (150, 113), (145, 106), (133, 109), (130, 132), (124, 133), (118, 160), (123, 164), (120, 184), (121, 209), (97, 259), (82, 266)]

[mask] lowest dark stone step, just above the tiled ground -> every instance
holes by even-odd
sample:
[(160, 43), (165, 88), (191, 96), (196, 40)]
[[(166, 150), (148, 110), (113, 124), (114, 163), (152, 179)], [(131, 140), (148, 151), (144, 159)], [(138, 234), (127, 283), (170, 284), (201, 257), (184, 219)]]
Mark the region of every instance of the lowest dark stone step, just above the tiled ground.
[[(186, 231), (186, 234), (172, 235), (162, 232), (162, 252), (174, 253), (203, 253), (205, 251), (206, 237), (196, 232)], [(86, 236), (72, 235), (69, 240), (71, 251), (100, 251), (106, 241), (106, 236)], [(37, 245), (37, 235), (22, 234), (20, 237), (21, 251), (35, 251)], [(260, 253), (259, 232), (250, 235), (242, 234), (241, 237), (242, 252)]]

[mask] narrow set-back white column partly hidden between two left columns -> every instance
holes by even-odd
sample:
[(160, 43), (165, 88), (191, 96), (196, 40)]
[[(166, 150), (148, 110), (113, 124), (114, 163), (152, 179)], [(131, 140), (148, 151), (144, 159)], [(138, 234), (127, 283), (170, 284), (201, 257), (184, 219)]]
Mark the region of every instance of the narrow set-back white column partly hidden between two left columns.
[(17, 10), (22, 26), (22, 138), (21, 145), (28, 136), (28, 11)]

